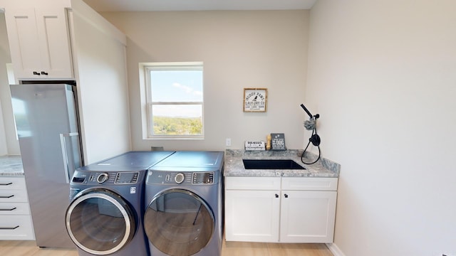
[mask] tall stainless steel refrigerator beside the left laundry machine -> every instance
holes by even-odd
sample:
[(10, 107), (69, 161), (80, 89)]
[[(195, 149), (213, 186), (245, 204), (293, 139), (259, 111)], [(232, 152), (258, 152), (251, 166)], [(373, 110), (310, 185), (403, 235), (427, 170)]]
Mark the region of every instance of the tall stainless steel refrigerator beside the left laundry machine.
[(69, 181), (83, 166), (76, 86), (10, 85), (36, 244), (74, 248), (65, 228)]

